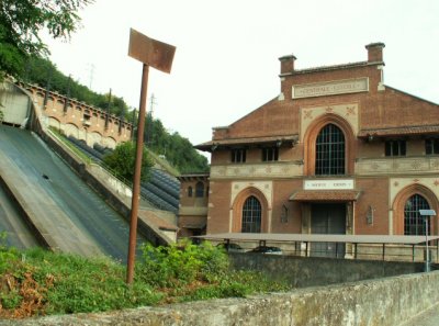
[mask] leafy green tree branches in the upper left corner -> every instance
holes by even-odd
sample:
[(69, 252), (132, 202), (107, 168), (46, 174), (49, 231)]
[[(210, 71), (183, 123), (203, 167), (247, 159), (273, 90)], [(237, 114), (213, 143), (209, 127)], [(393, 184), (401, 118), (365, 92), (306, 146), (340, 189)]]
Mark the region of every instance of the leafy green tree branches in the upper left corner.
[[(1, 0), (0, 74), (21, 77), (31, 56), (49, 52), (38, 33), (68, 40), (80, 23), (78, 11), (94, 0)], [(1, 76), (0, 76), (1, 78)]]

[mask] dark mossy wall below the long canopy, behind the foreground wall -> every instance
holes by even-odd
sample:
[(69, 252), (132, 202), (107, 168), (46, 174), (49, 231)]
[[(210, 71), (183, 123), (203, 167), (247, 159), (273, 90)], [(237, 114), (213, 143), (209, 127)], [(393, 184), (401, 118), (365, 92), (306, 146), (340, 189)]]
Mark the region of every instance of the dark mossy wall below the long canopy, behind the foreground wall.
[[(235, 269), (257, 270), (294, 288), (337, 284), (424, 271), (423, 262), (229, 254)], [(435, 268), (435, 266), (432, 266)]]

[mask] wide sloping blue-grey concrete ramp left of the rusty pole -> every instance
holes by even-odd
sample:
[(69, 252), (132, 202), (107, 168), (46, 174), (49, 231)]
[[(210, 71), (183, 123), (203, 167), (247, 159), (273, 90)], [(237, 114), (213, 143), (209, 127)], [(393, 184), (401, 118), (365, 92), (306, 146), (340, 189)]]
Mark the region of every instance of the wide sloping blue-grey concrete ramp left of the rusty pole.
[(0, 125), (0, 178), (46, 246), (126, 259), (126, 221), (37, 136)]

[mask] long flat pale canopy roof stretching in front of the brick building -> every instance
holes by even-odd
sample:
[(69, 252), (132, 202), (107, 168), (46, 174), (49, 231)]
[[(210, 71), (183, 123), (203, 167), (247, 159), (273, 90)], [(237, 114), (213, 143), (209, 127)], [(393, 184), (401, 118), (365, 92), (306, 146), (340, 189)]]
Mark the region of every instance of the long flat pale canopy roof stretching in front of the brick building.
[[(406, 244), (425, 243), (425, 236), (403, 235), (344, 235), (344, 234), (279, 234), (279, 233), (221, 233), (195, 238), (211, 240), (241, 241), (297, 241), (297, 243), (350, 243), (350, 244)], [(428, 240), (437, 240), (439, 236), (429, 236)]]

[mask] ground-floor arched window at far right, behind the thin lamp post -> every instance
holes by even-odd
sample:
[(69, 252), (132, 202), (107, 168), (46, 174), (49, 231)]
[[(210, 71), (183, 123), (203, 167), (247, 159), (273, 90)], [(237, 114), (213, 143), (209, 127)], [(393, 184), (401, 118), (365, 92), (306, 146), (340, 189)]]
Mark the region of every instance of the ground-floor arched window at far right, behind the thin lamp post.
[[(404, 235), (425, 235), (425, 221), (419, 210), (429, 210), (427, 200), (420, 194), (412, 195), (404, 206)], [(428, 234), (431, 233), (430, 220), (428, 220)]]

